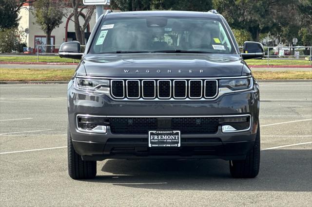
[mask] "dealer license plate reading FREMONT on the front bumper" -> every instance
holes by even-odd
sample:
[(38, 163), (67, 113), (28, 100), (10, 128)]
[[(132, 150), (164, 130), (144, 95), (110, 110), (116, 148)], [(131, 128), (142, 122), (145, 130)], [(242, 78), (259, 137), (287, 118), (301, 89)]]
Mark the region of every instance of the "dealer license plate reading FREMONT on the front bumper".
[(179, 147), (180, 131), (149, 131), (149, 147)]

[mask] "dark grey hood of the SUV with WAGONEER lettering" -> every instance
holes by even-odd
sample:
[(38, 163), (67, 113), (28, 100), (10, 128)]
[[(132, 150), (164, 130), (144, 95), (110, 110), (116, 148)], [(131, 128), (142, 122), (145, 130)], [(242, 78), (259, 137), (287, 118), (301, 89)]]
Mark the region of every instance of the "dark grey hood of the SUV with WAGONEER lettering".
[(81, 65), (87, 76), (227, 77), (240, 76), (244, 61), (237, 54), (88, 54)]

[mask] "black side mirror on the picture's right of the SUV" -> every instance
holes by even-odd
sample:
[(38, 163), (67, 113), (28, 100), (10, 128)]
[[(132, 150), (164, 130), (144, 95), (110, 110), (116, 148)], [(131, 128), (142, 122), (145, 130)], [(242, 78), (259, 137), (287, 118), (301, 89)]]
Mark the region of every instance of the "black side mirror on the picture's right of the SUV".
[(244, 60), (264, 57), (263, 45), (259, 42), (244, 42), (244, 53), (241, 53)]

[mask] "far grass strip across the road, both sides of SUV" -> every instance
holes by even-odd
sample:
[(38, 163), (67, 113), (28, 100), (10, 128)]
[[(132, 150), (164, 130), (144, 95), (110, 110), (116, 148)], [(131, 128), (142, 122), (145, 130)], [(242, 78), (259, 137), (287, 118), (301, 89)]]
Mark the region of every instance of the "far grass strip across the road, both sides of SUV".
[[(37, 62), (37, 56), (35, 55), (20, 55), (20, 56), (3, 56), (0, 55), (0, 62), (8, 61), (8, 62)], [(54, 63), (72, 63), (73, 59), (68, 58), (60, 58), (59, 56), (39, 56), (39, 62), (54, 62)], [(250, 59), (246, 60), (248, 65), (267, 65), (267, 59)], [(75, 63), (79, 63), (79, 60), (75, 60)], [(271, 59), (269, 61), (270, 65), (310, 65), (308, 60), (304, 59), (289, 59), (289, 60), (279, 60), (279, 59)]]

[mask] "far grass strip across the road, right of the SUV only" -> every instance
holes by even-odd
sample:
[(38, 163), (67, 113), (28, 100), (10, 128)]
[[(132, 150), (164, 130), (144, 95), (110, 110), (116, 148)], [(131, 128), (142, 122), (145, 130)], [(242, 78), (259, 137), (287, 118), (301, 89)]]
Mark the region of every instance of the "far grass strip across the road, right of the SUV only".
[[(246, 63), (248, 65), (267, 65), (268, 60), (267, 59), (249, 59), (246, 60)], [(303, 65), (310, 65), (310, 62), (308, 60), (304, 59), (289, 59), (289, 60), (278, 60), (278, 59), (269, 59), (269, 65), (294, 65), (294, 66), (303, 66)]]

